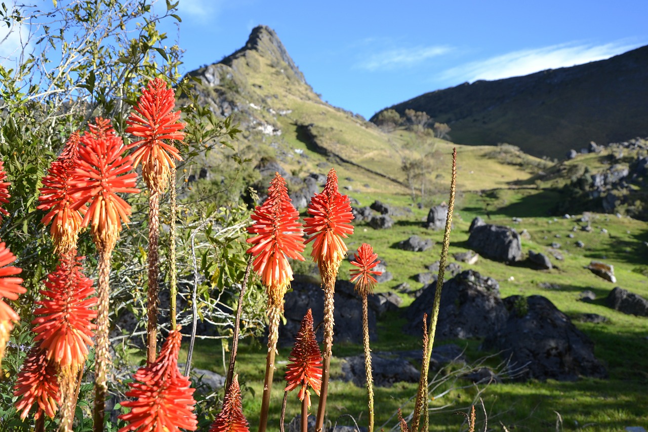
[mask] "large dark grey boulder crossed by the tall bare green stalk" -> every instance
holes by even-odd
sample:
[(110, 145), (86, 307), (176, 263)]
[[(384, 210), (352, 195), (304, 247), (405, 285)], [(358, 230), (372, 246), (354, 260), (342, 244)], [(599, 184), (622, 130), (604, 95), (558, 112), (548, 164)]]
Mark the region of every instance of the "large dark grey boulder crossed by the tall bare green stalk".
[[(423, 314), (430, 314), (437, 282), (424, 287), (421, 295), (405, 309), (405, 333), (422, 335)], [(438, 339), (483, 337), (503, 324), (508, 317), (500, 298), (500, 286), (492, 278), (466, 270), (443, 284)]]

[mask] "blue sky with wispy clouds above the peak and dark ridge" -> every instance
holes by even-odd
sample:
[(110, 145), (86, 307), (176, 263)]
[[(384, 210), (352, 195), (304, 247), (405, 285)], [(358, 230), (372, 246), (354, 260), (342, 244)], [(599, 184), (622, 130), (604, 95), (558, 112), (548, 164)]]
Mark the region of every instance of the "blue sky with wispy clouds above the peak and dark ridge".
[(369, 118), (427, 91), (648, 44), (648, 1), (180, 0), (189, 71), (272, 27), (322, 99)]

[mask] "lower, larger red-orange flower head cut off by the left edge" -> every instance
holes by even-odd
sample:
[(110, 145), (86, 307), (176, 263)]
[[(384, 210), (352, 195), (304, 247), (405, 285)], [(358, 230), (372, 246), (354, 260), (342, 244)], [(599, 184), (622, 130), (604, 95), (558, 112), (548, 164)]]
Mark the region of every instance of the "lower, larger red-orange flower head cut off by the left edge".
[(14, 322), (20, 319), (16, 311), (6, 304), (4, 299), (17, 300), (18, 294), (27, 292), (27, 289), (21, 285), (23, 280), (13, 277), (23, 269), (7, 265), (14, 261), (16, 261), (16, 256), (5, 247), (5, 242), (0, 243), (0, 363), (5, 357), (5, 345), (9, 340), (9, 333), (14, 328)]

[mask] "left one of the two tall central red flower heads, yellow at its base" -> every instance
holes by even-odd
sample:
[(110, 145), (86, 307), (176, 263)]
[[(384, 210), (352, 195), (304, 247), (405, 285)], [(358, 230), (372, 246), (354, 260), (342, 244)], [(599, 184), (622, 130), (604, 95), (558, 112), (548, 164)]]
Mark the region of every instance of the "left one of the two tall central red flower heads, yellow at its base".
[(268, 187), (268, 198), (252, 214), (254, 224), (248, 227), (247, 240), (253, 246), (247, 250), (255, 259), (253, 268), (268, 289), (270, 306), (283, 309), (283, 297), (292, 280), (288, 258), (304, 261), (303, 230), (298, 222), (299, 212), (288, 197), (286, 180), (275, 173)]

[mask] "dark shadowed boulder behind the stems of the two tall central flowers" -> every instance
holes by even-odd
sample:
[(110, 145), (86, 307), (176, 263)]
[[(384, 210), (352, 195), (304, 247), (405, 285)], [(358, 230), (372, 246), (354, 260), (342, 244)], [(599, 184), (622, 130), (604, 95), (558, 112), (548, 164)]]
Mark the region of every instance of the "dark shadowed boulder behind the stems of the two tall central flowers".
[[(292, 282), (292, 291), (284, 297), (284, 317), (286, 324), (279, 326), (279, 345), (292, 346), (299, 331), (301, 319), (308, 309), (312, 309), (313, 320), (317, 326), (324, 319), (324, 291), (320, 283), (298, 275)], [(362, 300), (354, 292), (351, 282), (338, 280), (335, 285), (335, 328), (333, 338), (336, 342), (362, 343)], [(369, 304), (375, 304), (370, 302)], [(379, 302), (378, 302), (379, 303)], [(375, 340), (376, 310), (369, 307), (369, 338)], [(323, 329), (316, 332), (318, 341), (323, 339)]]

